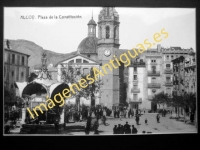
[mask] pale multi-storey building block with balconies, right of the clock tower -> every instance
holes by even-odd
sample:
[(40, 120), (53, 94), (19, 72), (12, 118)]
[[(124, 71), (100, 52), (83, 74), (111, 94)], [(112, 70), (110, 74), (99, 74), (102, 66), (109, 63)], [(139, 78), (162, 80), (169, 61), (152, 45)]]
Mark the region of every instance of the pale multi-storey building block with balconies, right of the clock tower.
[[(173, 64), (171, 60), (174, 60), (180, 56), (189, 56), (188, 54), (191, 53), (191, 51), (193, 50), (181, 49), (181, 47), (163, 48), (160, 44), (158, 44), (157, 48), (148, 49), (143, 54), (140, 54), (139, 57), (142, 59), (141, 62), (143, 65), (141, 66), (137, 64), (135, 66), (130, 65), (128, 67), (129, 82), (127, 89), (127, 102), (130, 104), (130, 107), (147, 110), (151, 109), (154, 111), (156, 111), (157, 108), (162, 109), (163, 107), (168, 107), (166, 105), (154, 104), (151, 102), (151, 99), (155, 94), (158, 94), (162, 91), (171, 97), (173, 88), (175, 87), (180, 87), (179, 90), (182, 91), (183, 85), (177, 85), (176, 83), (183, 82), (184, 64), (180, 65), (181, 72), (176, 72), (176, 75), (173, 75)], [(134, 73), (134, 70), (137, 69), (140, 70), (139, 72), (141, 72), (138, 74), (138, 76)], [(139, 84), (135, 84), (133, 80), (134, 77), (138, 78)], [(173, 82), (175, 78), (180, 81)], [(134, 92), (131, 92), (131, 89), (136, 85), (138, 85), (137, 88), (140, 89), (140, 91), (138, 90), (135, 92), (135, 90), (133, 90)], [(139, 102), (139, 98), (141, 98), (141, 102)], [(138, 99), (138, 101), (136, 101), (136, 99)], [(138, 103), (137, 105), (133, 105), (133, 102)]]

